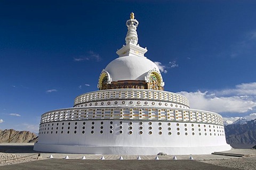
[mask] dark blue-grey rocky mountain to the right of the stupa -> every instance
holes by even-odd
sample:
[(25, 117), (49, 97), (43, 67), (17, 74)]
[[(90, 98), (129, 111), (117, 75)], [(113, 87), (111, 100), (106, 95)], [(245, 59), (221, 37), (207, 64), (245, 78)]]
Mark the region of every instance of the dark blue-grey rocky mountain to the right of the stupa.
[(226, 140), (229, 144), (256, 144), (256, 119), (242, 124), (225, 126)]

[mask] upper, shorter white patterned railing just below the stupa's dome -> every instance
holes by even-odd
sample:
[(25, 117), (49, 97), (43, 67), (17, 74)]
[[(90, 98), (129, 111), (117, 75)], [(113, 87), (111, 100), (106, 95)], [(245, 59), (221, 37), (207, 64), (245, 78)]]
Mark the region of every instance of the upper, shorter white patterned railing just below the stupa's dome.
[(159, 100), (178, 103), (189, 107), (189, 101), (185, 96), (168, 91), (148, 89), (112, 89), (93, 91), (76, 97), (74, 106), (92, 101), (115, 99)]

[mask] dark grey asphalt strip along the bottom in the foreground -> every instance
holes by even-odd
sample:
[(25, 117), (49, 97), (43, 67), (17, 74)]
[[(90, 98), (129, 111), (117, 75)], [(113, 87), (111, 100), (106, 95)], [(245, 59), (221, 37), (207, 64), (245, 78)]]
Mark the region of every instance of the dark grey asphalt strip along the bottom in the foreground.
[(196, 162), (195, 160), (71, 160), (45, 159), (34, 162), (1, 166), (0, 169), (213, 169), (234, 168)]

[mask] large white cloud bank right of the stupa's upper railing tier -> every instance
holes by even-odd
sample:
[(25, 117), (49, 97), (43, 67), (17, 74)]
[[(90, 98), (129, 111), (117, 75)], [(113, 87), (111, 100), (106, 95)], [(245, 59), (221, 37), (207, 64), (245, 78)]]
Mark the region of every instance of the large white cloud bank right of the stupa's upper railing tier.
[(256, 83), (238, 84), (234, 89), (214, 91), (181, 91), (186, 96), (190, 107), (217, 113), (245, 113), (256, 107)]

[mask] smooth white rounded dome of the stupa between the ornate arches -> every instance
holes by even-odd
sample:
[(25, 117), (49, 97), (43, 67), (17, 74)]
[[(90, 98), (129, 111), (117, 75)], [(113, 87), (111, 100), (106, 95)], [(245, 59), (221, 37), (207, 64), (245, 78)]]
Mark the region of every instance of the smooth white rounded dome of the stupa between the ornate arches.
[(106, 71), (111, 81), (119, 80), (144, 80), (150, 70), (156, 69), (157, 65), (146, 57), (124, 56), (118, 57), (106, 66)]

